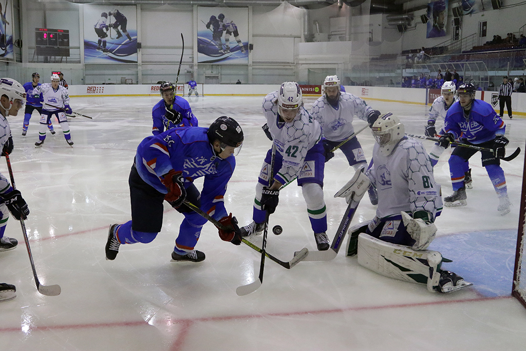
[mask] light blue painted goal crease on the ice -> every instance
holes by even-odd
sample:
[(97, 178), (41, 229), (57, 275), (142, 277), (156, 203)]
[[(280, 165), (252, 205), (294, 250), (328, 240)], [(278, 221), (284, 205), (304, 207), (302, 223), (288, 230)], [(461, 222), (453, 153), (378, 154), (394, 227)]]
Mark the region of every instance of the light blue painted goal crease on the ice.
[(428, 249), (453, 260), (442, 269), (473, 283), (483, 296), (498, 297), (511, 294), (516, 246), (517, 229), (503, 229), (437, 237)]

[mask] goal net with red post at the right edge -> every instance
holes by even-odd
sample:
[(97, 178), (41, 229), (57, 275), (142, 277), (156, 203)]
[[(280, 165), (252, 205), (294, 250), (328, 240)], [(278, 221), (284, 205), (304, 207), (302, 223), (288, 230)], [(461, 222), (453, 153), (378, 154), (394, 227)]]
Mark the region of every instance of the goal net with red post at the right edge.
[(511, 294), (526, 307), (526, 157), (524, 157), (524, 171), (522, 177), (522, 194), (519, 212), (519, 232), (517, 235), (517, 253), (515, 254), (515, 269), (513, 271), (513, 290)]

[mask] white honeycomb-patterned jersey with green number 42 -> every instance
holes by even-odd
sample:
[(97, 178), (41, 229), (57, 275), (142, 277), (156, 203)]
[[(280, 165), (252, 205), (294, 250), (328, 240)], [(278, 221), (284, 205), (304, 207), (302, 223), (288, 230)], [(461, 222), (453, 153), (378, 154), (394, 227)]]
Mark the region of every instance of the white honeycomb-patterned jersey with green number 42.
[(321, 140), (321, 126), (301, 106), (291, 123), (280, 122), (278, 115), (278, 91), (268, 94), (261, 107), (277, 151), (283, 156), (276, 180), (286, 184), (293, 180), (303, 165), (307, 152)]

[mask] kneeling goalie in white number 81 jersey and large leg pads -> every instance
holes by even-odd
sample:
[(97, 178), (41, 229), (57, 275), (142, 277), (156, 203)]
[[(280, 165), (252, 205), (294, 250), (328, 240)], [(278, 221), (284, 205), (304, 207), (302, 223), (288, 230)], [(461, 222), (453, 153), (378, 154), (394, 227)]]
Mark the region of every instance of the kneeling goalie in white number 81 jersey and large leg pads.
[(442, 210), (440, 185), (434, 182), (426, 150), (404, 136), (404, 129), (391, 113), (373, 124), (376, 144), (366, 175), (378, 189), (378, 208), (370, 222), (351, 229), (347, 255), (358, 253), (360, 265), (388, 277), (427, 284), (432, 292), (471, 285), (442, 270), (442, 262), (450, 261), (426, 249), (437, 232), (434, 219)]

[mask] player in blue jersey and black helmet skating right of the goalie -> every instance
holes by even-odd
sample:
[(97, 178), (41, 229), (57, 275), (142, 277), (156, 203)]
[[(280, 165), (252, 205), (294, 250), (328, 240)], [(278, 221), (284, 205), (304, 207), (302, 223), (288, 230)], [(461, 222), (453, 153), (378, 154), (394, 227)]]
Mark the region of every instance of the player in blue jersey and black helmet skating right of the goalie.
[[(488, 147), (493, 153), (481, 151), (482, 166), (486, 168), (491, 183), (499, 197), (498, 211), (501, 215), (510, 212), (510, 200), (506, 187), (504, 171), (500, 166), (500, 157), (505, 155), (508, 138), (504, 136), (505, 124), (495, 113), (493, 107), (482, 100), (475, 99), (476, 88), (471, 83), (461, 84), (457, 89), (459, 102), (449, 109), (444, 121), (444, 135), (440, 137), (440, 145), (447, 148), (451, 142), (462, 137), (465, 144)], [(469, 158), (478, 151), (457, 146), (449, 158), (449, 171), (453, 194), (444, 198), (448, 207), (466, 206), (467, 196), (464, 187), (464, 168)]]

